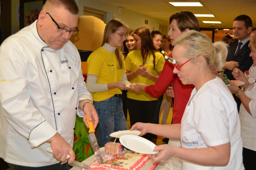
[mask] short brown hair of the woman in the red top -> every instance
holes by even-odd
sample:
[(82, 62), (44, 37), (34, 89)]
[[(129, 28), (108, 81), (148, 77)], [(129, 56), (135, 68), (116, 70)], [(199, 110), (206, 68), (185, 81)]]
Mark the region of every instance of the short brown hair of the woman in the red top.
[(169, 23), (171, 24), (172, 20), (176, 19), (177, 26), (181, 32), (184, 32), (185, 29), (199, 31), (199, 22), (197, 17), (189, 11), (181, 11), (175, 13), (169, 18)]

